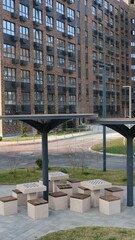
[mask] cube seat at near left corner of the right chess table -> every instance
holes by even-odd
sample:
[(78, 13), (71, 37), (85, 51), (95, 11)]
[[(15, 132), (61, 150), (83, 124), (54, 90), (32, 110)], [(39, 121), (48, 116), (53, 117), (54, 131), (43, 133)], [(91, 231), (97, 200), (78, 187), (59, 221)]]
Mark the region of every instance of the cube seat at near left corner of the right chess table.
[(90, 195), (76, 193), (70, 197), (70, 210), (84, 213), (90, 210)]

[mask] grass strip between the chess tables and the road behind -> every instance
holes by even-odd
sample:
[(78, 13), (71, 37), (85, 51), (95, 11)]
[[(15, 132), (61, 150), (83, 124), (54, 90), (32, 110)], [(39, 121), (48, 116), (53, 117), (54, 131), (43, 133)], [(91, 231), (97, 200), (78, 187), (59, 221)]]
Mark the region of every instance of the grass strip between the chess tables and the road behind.
[[(49, 168), (50, 171), (60, 171), (61, 168)], [(102, 170), (96, 169), (81, 169), (81, 168), (66, 168), (67, 173), (70, 178), (80, 179), (80, 180), (90, 180), (101, 178), (106, 181), (110, 181), (115, 185), (126, 185), (126, 171), (112, 171), (107, 170), (103, 172)], [(29, 169), (15, 169), (15, 170), (1, 170), (0, 171), (0, 184), (17, 184), (24, 182), (38, 181), (42, 178), (42, 170), (37, 168)], [(134, 185), (135, 185), (135, 175), (134, 175)]]

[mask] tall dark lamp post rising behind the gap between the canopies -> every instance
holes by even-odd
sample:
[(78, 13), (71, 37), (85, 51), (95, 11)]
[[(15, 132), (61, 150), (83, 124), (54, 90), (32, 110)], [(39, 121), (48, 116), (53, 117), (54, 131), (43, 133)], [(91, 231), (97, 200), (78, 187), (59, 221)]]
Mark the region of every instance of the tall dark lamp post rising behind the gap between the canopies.
[[(102, 67), (102, 117), (106, 118), (106, 68), (111, 65), (97, 62)], [(103, 171), (106, 171), (106, 126), (103, 125)]]

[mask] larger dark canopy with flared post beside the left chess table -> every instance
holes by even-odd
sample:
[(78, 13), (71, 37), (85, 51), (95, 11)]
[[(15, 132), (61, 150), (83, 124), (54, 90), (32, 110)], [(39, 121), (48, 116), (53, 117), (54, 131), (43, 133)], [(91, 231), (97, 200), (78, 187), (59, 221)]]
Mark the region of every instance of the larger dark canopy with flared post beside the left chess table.
[(97, 114), (36, 114), (36, 115), (2, 115), (1, 120), (23, 121), (42, 134), (42, 177), (46, 191), (43, 198), (48, 201), (48, 133), (58, 125), (72, 119), (88, 119), (93, 122), (98, 118)]

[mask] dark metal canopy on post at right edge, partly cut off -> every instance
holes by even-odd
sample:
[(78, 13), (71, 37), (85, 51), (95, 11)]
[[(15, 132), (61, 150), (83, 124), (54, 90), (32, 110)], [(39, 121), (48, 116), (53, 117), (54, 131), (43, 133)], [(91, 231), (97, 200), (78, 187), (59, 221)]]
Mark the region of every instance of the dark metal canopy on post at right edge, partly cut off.
[(96, 124), (109, 127), (127, 139), (127, 206), (133, 206), (133, 139), (135, 118), (99, 118)]

